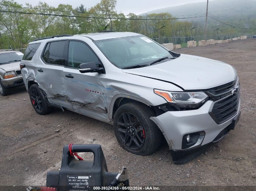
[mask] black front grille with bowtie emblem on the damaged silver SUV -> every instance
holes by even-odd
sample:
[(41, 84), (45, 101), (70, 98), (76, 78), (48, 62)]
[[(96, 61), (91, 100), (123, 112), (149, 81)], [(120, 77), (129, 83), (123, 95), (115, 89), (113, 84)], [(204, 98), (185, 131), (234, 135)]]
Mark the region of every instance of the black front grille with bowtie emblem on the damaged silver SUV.
[[(230, 86), (231, 84), (232, 86)], [(235, 86), (237, 86), (237, 84), (238, 88), (235, 89)], [(231, 118), (238, 112), (240, 101), (240, 84), (239, 81), (234, 81), (232, 83), (226, 84), (226, 86), (222, 86), (218, 90), (217, 88), (213, 89), (213, 91), (208, 90), (208, 92), (211, 91), (215, 94), (213, 96), (210, 96), (210, 99), (214, 100), (215, 103), (209, 114), (216, 123), (220, 124), (225, 120)], [(232, 90), (234, 90), (233, 94)], [(216, 94), (221, 96), (217, 96)]]

